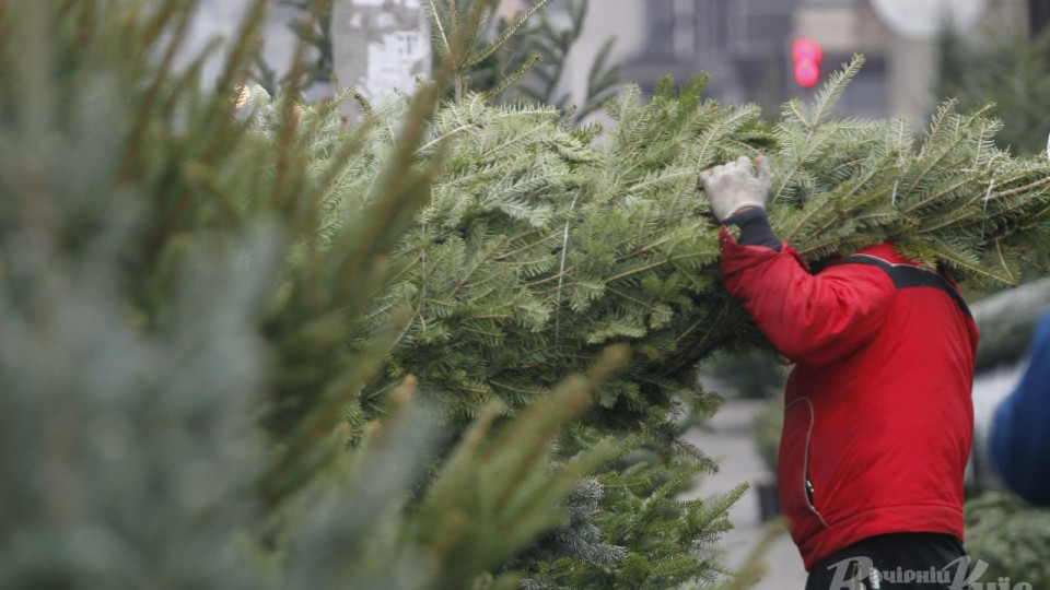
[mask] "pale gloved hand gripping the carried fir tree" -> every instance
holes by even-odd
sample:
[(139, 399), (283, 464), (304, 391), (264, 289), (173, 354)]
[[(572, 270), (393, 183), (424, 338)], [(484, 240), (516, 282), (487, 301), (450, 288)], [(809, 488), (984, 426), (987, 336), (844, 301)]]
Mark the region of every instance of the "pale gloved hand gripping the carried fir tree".
[(711, 201), (711, 211), (720, 222), (745, 208), (766, 210), (772, 194), (773, 173), (769, 168), (768, 157), (758, 156), (755, 162), (758, 164), (758, 175), (751, 168), (751, 158), (747, 156), (700, 173), (703, 191)]

